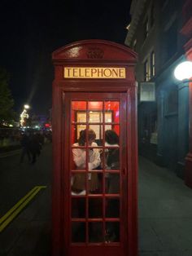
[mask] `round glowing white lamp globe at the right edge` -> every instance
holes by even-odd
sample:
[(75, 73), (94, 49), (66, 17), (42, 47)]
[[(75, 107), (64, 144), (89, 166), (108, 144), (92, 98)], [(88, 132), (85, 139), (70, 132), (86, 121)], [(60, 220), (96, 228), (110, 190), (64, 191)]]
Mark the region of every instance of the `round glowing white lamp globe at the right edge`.
[(175, 68), (174, 76), (179, 81), (190, 79), (192, 77), (192, 62), (184, 61), (181, 64), (178, 64)]

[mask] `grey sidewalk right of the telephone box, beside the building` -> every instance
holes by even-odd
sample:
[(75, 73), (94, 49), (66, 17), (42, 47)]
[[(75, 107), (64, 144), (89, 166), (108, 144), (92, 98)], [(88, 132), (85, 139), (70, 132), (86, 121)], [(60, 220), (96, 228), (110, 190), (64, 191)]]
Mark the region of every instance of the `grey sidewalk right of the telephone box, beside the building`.
[(192, 255), (192, 189), (169, 170), (140, 157), (140, 256)]

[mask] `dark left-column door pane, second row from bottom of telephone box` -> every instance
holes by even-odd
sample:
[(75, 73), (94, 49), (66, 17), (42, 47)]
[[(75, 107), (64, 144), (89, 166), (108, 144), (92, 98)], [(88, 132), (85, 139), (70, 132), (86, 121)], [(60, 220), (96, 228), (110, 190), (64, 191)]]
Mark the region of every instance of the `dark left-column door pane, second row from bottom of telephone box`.
[(72, 198), (72, 218), (85, 218), (85, 198)]

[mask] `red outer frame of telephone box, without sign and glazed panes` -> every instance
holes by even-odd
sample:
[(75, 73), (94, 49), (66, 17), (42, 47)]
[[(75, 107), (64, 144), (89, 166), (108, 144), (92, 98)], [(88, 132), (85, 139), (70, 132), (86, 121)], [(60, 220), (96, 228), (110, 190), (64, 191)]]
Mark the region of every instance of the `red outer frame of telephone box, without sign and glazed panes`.
[[(107, 93), (108, 99), (114, 93), (120, 93), (126, 97), (126, 105), (122, 108), (127, 115), (121, 124), (127, 133), (124, 139), (124, 146), (127, 150), (128, 166), (127, 183), (128, 200), (125, 202), (128, 214), (128, 227), (124, 227), (124, 234), (128, 235), (129, 256), (137, 256), (137, 86), (134, 78), (134, 66), (137, 55), (129, 48), (120, 46), (114, 42), (103, 40), (87, 40), (75, 42), (64, 46), (53, 53), (55, 64), (55, 80), (53, 82), (53, 183), (52, 183), (52, 255), (70, 255), (68, 246), (69, 225), (63, 227), (63, 223), (68, 223), (68, 198), (69, 182), (64, 179), (69, 169), (69, 139), (65, 136), (70, 134), (70, 104), (68, 95), (70, 92), (79, 95), (86, 92), (91, 99), (93, 92), (102, 95)], [(93, 59), (94, 58), (94, 59)], [(126, 68), (125, 79), (64, 79), (64, 66), (76, 67), (124, 67)], [(90, 86), (91, 85), (91, 86)], [(74, 95), (74, 94), (73, 94)], [(63, 166), (67, 170), (63, 169)], [(124, 245), (126, 247), (126, 245)], [(81, 247), (81, 255), (85, 251), (89, 255), (100, 253), (99, 247)], [(110, 254), (114, 255), (111, 246)], [(104, 255), (104, 254), (103, 254)]]

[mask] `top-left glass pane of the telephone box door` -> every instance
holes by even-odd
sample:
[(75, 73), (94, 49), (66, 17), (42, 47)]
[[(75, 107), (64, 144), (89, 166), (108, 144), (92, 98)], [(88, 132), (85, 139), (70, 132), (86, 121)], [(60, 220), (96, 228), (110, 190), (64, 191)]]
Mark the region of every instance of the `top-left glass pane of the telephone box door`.
[(85, 101), (72, 101), (72, 122), (85, 122), (86, 121), (86, 102)]

